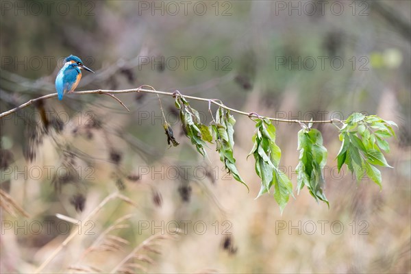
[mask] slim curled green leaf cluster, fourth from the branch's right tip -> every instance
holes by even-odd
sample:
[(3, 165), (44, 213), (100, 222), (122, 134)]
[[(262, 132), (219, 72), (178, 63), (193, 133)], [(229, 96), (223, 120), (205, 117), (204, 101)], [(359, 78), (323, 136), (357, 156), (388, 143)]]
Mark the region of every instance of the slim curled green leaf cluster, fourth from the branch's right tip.
[(234, 147), (234, 124), (236, 119), (229, 114), (229, 111), (219, 108), (216, 112), (216, 119), (211, 125), (212, 134), (216, 141), (216, 151), (219, 151), (220, 160), (224, 163), (225, 169), (232, 174), (241, 184), (244, 184), (249, 190), (247, 184), (241, 178), (236, 167), (236, 159), (233, 156)]

